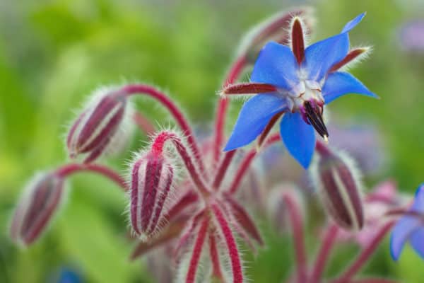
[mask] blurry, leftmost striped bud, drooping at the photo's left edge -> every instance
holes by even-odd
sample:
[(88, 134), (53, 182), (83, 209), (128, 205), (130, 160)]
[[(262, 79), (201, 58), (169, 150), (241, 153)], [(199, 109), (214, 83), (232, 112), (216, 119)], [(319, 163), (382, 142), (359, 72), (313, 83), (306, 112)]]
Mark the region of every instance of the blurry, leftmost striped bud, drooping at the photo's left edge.
[(64, 179), (40, 173), (30, 180), (11, 221), (11, 238), (28, 246), (40, 237), (64, 199)]

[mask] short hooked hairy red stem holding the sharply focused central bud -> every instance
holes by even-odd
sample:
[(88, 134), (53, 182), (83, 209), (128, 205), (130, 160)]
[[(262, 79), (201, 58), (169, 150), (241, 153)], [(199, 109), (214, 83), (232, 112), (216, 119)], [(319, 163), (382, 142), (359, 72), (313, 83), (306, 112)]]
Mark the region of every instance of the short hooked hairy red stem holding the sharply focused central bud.
[(177, 134), (167, 131), (160, 132), (160, 134), (155, 137), (151, 150), (158, 154), (162, 154), (163, 146), (165, 146), (165, 143), (167, 141), (172, 141), (172, 144), (175, 146), (175, 149), (177, 149), (179, 156), (184, 162), (184, 165), (190, 177), (192, 178), (194, 185), (196, 185), (196, 187), (199, 189), (201, 195), (209, 195), (209, 190), (207, 189), (204, 181), (202, 180), (201, 175), (199, 175), (199, 173), (197, 172), (196, 166), (194, 166), (194, 163), (192, 161), (192, 157), (190, 156), (186, 146), (184, 146), (182, 140), (177, 136)]

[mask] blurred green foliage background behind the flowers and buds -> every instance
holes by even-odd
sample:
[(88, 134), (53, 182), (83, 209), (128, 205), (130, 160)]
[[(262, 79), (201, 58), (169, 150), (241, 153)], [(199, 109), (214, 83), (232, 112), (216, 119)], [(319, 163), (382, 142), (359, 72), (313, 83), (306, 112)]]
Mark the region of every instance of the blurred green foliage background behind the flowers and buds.
[[(374, 52), (353, 74), (382, 100), (350, 96), (329, 108), (382, 132), (389, 166), (367, 185), (391, 177), (413, 192), (424, 179), (424, 50), (406, 52), (397, 34), (402, 24), (423, 17), (422, 1), (310, 2), (317, 8), (315, 39), (338, 33), (367, 11), (351, 41), (373, 45)], [(8, 219), (25, 180), (66, 160), (63, 137), (73, 110), (104, 84), (154, 83), (170, 91), (197, 125), (208, 127), (216, 91), (243, 33), (300, 4), (305, 2), (1, 0), (0, 282), (54, 281), (61, 267), (79, 272), (83, 282), (154, 282), (142, 261), (127, 261), (124, 196), (97, 176), (72, 178), (68, 203), (49, 232), (28, 250), (13, 246)], [(139, 108), (161, 125), (169, 123), (151, 101), (142, 100)], [(134, 149), (142, 138), (134, 138)], [(110, 163), (124, 164), (122, 158)], [(247, 273), (253, 282), (281, 282), (293, 265), (291, 245), (264, 230), (268, 248), (256, 260), (249, 258)], [(315, 241), (312, 235), (310, 248)], [(355, 247), (339, 250), (334, 270), (354, 253)], [(423, 267), (411, 248), (400, 262), (391, 262), (385, 245), (365, 271), (423, 282)]]

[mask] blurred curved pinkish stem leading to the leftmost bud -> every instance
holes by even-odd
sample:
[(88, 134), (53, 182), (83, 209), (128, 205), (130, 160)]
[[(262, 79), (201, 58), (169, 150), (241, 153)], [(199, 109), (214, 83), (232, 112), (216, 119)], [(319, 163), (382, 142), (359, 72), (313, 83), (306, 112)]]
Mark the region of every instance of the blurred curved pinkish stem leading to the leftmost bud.
[(66, 177), (69, 177), (69, 175), (72, 175), (73, 173), (84, 172), (84, 171), (103, 175), (106, 178), (112, 180), (114, 183), (117, 183), (119, 187), (122, 187), (122, 190), (124, 191), (129, 190), (124, 178), (122, 178), (121, 175), (119, 175), (119, 173), (117, 173), (116, 171), (114, 171), (113, 169), (109, 167), (102, 166), (99, 164), (69, 163), (57, 168), (55, 173), (61, 178), (66, 178)]

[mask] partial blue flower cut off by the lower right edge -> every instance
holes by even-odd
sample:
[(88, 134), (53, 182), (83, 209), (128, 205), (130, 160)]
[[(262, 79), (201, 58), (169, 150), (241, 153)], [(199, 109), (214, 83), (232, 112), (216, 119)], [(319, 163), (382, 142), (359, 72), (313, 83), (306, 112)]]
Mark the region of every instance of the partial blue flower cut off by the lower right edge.
[(424, 183), (416, 190), (411, 209), (397, 222), (391, 232), (391, 258), (398, 260), (406, 241), (424, 258)]

